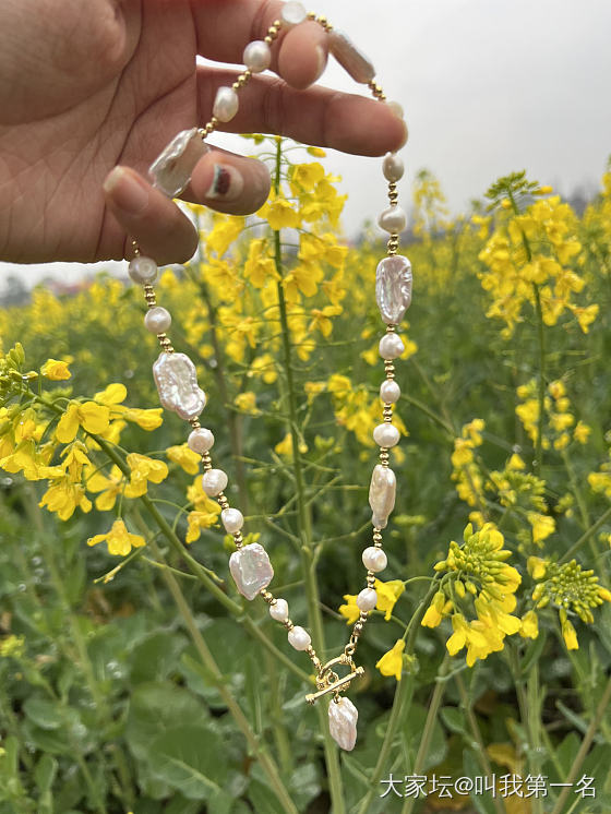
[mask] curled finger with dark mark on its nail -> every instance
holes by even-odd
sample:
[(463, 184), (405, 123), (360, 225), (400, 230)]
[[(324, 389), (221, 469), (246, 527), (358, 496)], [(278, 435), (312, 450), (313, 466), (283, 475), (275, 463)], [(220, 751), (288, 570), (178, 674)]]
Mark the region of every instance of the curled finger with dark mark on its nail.
[(269, 171), (261, 161), (212, 149), (200, 159), (181, 197), (229, 215), (250, 215), (269, 194)]

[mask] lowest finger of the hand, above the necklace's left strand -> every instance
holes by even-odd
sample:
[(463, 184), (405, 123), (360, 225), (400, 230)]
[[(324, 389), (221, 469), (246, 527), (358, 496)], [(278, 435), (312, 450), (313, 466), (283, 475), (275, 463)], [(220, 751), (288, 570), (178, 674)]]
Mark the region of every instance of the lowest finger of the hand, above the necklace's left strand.
[[(189, 218), (129, 167), (115, 167), (104, 182), (106, 203), (127, 235), (159, 265), (184, 263), (197, 248)], [(125, 256), (129, 252), (125, 252)]]

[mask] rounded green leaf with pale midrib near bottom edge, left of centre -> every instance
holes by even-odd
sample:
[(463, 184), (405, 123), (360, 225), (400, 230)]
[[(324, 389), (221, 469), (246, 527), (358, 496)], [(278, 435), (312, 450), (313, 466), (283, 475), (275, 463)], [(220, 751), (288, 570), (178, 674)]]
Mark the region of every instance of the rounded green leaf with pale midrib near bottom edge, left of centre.
[(175, 727), (155, 738), (148, 763), (161, 780), (189, 800), (219, 794), (228, 773), (223, 740), (197, 725)]

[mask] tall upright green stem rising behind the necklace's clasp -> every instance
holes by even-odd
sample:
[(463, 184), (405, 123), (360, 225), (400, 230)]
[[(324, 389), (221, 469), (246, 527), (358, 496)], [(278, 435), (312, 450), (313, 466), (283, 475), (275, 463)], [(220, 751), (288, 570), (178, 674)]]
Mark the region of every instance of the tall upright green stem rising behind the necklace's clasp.
[[(274, 176), (274, 189), (276, 195), (280, 191), (280, 173), (281, 173), (281, 140), (277, 140), (276, 147), (276, 171)], [(306, 596), (308, 600), (308, 618), (310, 622), (310, 629), (312, 631), (312, 642), (314, 649), (321, 654), (324, 654), (325, 643), (323, 633), (323, 620), (321, 613), (321, 602), (319, 596), (319, 586), (315, 575), (315, 563), (312, 551), (312, 517), (310, 507), (306, 495), (306, 483), (303, 479), (303, 465), (301, 460), (301, 453), (299, 452), (299, 430), (297, 422), (297, 390), (295, 386), (293, 370), (292, 370), (292, 350), (290, 346), (290, 330), (288, 325), (288, 312), (287, 303), (285, 299), (285, 292), (281, 285), (283, 278), (283, 252), (280, 243), (280, 232), (274, 232), (274, 261), (276, 271), (278, 273), (278, 308), (280, 314), (280, 334), (283, 355), (285, 362), (285, 374), (287, 382), (287, 400), (288, 400), (288, 415), (290, 424), (290, 436), (292, 443), (292, 470), (295, 475), (295, 491), (297, 498), (297, 522), (299, 527), (299, 537), (301, 542), (301, 565), (303, 568), (303, 578), (306, 587)], [(319, 726), (323, 734), (324, 743), (324, 755), (328, 779), (328, 791), (331, 794), (331, 803), (333, 814), (345, 814), (346, 805), (344, 801), (344, 791), (342, 786), (342, 774), (339, 770), (339, 758), (337, 755), (337, 747), (331, 733), (326, 721), (327, 705), (316, 704), (316, 714), (319, 717)]]

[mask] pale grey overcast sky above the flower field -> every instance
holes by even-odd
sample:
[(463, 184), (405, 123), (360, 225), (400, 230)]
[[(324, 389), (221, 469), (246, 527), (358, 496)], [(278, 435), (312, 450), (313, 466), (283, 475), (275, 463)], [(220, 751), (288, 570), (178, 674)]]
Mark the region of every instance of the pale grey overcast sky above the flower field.
[[(428, 167), (454, 212), (481, 197), (498, 176), (524, 169), (563, 193), (591, 192), (611, 154), (609, 0), (314, 0), (374, 62), (381, 84), (406, 111), (410, 137), (402, 182)], [(322, 80), (350, 92), (336, 65)], [(244, 142), (228, 137), (229, 148)], [(330, 153), (328, 169), (349, 194), (355, 234), (384, 188), (380, 160)], [(109, 264), (117, 268), (117, 264)], [(48, 267), (0, 264), (0, 277), (28, 283)], [(53, 264), (63, 277), (80, 267)]]

